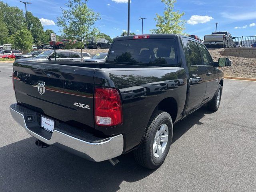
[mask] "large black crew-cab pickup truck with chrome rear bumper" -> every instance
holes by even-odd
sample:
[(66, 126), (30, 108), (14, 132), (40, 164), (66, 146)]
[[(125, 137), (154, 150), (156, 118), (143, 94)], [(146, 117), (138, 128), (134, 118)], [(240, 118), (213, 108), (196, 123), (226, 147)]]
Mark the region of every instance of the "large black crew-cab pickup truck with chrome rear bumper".
[(201, 42), (176, 34), (116, 38), (106, 63), (13, 64), (12, 117), (38, 146), (58, 146), (92, 161), (134, 151), (158, 168), (173, 124), (207, 104), (217, 111), (228, 58), (214, 62)]

